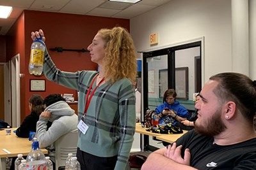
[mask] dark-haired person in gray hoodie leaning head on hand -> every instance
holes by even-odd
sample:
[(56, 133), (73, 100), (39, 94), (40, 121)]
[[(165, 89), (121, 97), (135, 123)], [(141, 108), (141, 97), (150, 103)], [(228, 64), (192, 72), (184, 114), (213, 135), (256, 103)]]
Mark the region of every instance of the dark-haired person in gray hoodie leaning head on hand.
[[(36, 124), (36, 138), (40, 148), (49, 146), (49, 156), (54, 161), (54, 142), (63, 134), (77, 129), (77, 115), (60, 94), (45, 97), (44, 104), (46, 108)], [(48, 120), (52, 125), (47, 130)]]

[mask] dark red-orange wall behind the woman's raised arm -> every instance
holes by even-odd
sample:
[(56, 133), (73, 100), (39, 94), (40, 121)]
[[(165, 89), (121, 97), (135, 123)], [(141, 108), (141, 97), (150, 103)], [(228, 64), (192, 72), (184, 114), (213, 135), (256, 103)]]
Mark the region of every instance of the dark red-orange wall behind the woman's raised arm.
[[(72, 15), (67, 13), (51, 13), (25, 10), (8, 32), (12, 39), (8, 41), (7, 60), (16, 53), (20, 53), (20, 104), (21, 122), (29, 115), (28, 100), (32, 94), (43, 97), (52, 93), (74, 94), (76, 90), (61, 87), (45, 79), (45, 76), (36, 77), (28, 73), (29, 55), (31, 47), (31, 32), (43, 29), (46, 37), (47, 50), (56, 66), (63, 71), (97, 70), (97, 64), (90, 59), (89, 53), (82, 52), (55, 52), (49, 48), (62, 47), (66, 49), (86, 49), (92, 42), (97, 31), (103, 27), (122, 26), (129, 31), (129, 20), (108, 17), (93, 17), (86, 15)], [(10, 48), (12, 46), (12, 48)], [(14, 47), (14, 48), (13, 48)], [(31, 79), (44, 79), (45, 92), (30, 92)]]

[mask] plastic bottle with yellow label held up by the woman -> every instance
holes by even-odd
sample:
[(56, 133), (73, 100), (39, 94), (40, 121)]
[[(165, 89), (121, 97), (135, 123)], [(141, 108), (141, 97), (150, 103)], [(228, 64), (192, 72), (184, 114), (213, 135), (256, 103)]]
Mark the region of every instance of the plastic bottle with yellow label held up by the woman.
[(45, 43), (42, 37), (36, 38), (31, 45), (29, 59), (29, 74), (40, 75), (43, 73)]

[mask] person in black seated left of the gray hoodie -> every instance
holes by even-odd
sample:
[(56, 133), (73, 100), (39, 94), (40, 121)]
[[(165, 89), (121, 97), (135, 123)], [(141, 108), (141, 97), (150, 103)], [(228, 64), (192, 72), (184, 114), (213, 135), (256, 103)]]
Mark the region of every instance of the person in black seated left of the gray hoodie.
[(29, 138), (29, 132), (36, 132), (36, 122), (39, 115), (44, 111), (43, 107), (44, 98), (39, 94), (33, 94), (29, 98), (29, 110), (31, 111), (16, 131), (16, 135), (20, 138)]

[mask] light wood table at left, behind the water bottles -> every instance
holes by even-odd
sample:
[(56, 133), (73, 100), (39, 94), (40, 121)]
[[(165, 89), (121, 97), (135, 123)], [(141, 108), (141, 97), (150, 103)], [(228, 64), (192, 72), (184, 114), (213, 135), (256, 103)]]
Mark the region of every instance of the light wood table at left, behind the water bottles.
[[(17, 157), (19, 153), (26, 156), (31, 151), (32, 142), (28, 138), (19, 138), (13, 132), (17, 128), (11, 128), (12, 134), (6, 135), (5, 129), (0, 131), (0, 170), (6, 169), (6, 157)], [(10, 153), (4, 152), (3, 148), (8, 150)], [(47, 154), (48, 151), (45, 148), (41, 148), (44, 154)]]

